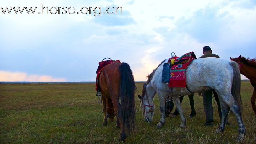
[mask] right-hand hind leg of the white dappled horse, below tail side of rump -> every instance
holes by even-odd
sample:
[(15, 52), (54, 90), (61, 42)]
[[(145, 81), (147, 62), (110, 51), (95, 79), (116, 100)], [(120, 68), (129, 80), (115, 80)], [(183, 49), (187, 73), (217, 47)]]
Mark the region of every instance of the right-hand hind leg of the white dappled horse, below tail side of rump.
[(231, 108), (232, 112), (236, 116), (236, 121), (238, 123), (238, 132), (239, 132), (237, 139), (238, 140), (244, 139), (244, 135), (246, 134), (244, 122), (242, 121), (241, 112), (239, 110), (238, 105), (236, 105), (236, 102), (231, 92), (229, 92), (228, 94), (221, 94), (220, 97), (222, 97), (224, 102)]

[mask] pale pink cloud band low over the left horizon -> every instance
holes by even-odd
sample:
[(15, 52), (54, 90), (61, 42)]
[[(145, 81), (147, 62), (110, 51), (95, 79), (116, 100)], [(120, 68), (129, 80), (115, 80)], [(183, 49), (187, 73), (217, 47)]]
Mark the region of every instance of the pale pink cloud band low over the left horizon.
[(53, 78), (49, 75), (27, 74), (0, 70), (0, 81), (30, 81), (30, 82), (64, 82), (65, 78)]

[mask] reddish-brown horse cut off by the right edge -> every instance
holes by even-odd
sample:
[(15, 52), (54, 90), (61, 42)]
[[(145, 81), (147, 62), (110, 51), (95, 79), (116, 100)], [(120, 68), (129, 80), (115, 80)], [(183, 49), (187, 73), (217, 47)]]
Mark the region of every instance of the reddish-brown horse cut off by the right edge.
[(252, 93), (251, 97), (251, 104), (252, 104), (252, 110), (254, 111), (254, 114), (256, 115), (256, 105), (255, 105), (255, 99), (256, 99), (256, 58), (245, 58), (241, 57), (241, 55), (238, 58), (231, 58), (230, 60), (233, 60), (238, 63), (240, 68), (240, 73), (246, 76), (246, 78), (250, 79), (251, 85), (254, 87), (254, 91)]

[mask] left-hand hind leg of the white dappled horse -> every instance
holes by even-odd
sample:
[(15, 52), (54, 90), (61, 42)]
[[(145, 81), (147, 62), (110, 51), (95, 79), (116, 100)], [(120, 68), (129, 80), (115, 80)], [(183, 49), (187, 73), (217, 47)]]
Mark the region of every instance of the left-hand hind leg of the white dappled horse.
[(226, 105), (226, 103), (221, 98), (219, 98), (219, 102), (220, 102), (220, 106), (221, 106), (222, 115), (221, 115), (221, 118), (220, 118), (219, 127), (215, 131), (216, 133), (224, 132), (225, 124), (227, 122), (227, 117), (228, 117), (228, 106)]

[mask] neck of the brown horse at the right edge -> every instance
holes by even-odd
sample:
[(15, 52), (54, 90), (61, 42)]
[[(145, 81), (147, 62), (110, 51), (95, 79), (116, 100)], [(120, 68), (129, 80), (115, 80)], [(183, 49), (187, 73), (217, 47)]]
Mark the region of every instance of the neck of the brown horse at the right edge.
[(246, 63), (242, 63), (242, 66), (240, 67), (241, 74), (243, 74), (244, 76), (246, 76), (246, 78), (248, 78), (250, 80), (255, 80), (256, 81), (255, 71), (256, 71), (255, 66), (251, 66), (251, 65), (248, 65)]

